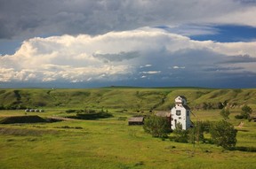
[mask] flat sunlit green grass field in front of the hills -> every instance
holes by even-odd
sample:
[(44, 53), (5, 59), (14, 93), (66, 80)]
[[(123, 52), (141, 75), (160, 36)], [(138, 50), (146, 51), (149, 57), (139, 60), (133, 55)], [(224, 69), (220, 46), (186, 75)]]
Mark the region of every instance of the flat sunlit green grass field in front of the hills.
[[(255, 152), (152, 138), (141, 126), (127, 125), (126, 117), (131, 114), (112, 111), (114, 117), (109, 119), (0, 125), (1, 168), (256, 167)], [(19, 115), (24, 112), (0, 111), (4, 116), (7, 113)], [(51, 111), (44, 116), (47, 114), (52, 116)], [(239, 123), (234, 119), (235, 114), (236, 111), (231, 113), (230, 121)], [(197, 116), (220, 119), (219, 111), (199, 111)], [(237, 127), (238, 147), (255, 147), (255, 127), (256, 123), (247, 121), (243, 127)]]

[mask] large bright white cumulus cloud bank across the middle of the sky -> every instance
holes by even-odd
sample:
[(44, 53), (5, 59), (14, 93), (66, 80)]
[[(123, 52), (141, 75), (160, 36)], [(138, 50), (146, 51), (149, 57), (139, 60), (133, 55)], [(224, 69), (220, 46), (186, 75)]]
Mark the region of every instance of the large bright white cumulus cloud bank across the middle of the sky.
[(255, 46), (256, 42), (200, 42), (150, 27), (95, 36), (36, 37), (23, 42), (13, 55), (0, 57), (0, 81), (135, 81), (146, 74), (165, 81), (191, 78), (192, 72), (214, 76), (214, 67), (227, 66), (227, 73), (235, 68), (236, 73), (256, 73)]

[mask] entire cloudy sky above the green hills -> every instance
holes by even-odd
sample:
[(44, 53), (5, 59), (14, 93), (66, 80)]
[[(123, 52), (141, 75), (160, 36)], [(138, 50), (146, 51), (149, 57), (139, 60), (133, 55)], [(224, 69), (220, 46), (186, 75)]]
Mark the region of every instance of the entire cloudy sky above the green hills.
[(256, 88), (256, 0), (0, 0), (0, 88)]

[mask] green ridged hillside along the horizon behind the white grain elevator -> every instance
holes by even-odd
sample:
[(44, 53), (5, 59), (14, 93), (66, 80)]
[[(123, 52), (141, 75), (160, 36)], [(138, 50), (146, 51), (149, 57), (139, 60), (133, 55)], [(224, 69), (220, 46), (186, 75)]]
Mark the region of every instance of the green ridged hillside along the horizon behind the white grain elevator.
[(231, 108), (243, 104), (256, 107), (256, 89), (212, 88), (86, 88), (0, 89), (0, 109), (36, 107), (118, 108), (132, 110), (168, 110), (176, 96), (186, 96), (192, 109)]

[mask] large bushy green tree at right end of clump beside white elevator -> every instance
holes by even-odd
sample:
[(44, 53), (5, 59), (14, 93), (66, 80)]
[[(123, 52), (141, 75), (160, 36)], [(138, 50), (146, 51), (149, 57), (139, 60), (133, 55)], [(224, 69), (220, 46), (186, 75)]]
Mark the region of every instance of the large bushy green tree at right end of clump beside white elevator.
[(224, 149), (236, 146), (237, 130), (226, 120), (213, 123), (210, 129), (212, 141)]

